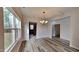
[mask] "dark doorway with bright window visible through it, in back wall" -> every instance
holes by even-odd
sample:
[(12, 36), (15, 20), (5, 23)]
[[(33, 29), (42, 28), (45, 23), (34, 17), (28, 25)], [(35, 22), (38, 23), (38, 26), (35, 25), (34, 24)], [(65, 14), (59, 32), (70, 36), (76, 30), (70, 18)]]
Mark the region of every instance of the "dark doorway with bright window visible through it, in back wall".
[(36, 36), (37, 23), (29, 22), (29, 39)]

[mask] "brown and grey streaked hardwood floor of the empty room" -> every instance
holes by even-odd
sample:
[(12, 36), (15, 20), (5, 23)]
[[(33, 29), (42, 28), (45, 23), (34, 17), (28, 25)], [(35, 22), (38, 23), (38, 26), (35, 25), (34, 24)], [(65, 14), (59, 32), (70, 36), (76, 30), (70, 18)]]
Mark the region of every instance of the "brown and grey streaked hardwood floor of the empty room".
[(24, 52), (78, 52), (79, 50), (70, 47), (58, 39), (40, 38), (31, 39), (26, 44)]

